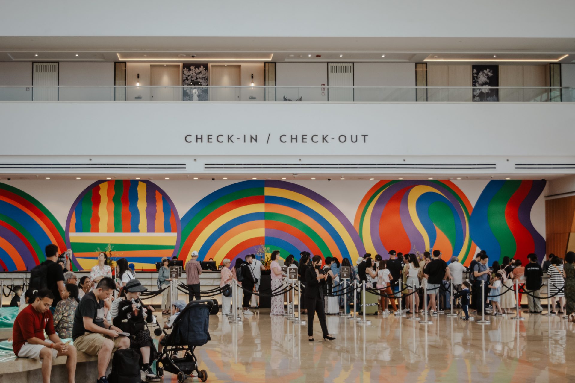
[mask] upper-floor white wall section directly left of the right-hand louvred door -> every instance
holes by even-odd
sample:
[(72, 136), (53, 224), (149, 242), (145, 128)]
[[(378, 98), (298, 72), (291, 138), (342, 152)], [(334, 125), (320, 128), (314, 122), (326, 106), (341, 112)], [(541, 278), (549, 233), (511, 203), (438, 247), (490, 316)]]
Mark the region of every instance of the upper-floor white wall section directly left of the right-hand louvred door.
[(290, 100), (302, 96), (302, 101), (327, 101), (327, 88), (321, 91), (321, 84), (327, 86), (327, 63), (277, 63), (275, 84), (277, 101), (282, 101), (283, 96)]

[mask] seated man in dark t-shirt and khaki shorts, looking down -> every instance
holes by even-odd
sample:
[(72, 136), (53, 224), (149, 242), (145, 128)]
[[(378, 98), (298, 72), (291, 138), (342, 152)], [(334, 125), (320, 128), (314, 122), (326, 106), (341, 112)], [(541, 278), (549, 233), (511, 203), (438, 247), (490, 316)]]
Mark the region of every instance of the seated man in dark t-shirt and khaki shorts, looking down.
[(104, 317), (104, 300), (112, 296), (115, 288), (112, 278), (102, 278), (93, 291), (82, 297), (74, 314), (74, 345), (78, 351), (98, 357), (98, 383), (108, 383), (106, 368), (112, 352), (130, 346), (130, 339), (120, 335), (122, 330)]

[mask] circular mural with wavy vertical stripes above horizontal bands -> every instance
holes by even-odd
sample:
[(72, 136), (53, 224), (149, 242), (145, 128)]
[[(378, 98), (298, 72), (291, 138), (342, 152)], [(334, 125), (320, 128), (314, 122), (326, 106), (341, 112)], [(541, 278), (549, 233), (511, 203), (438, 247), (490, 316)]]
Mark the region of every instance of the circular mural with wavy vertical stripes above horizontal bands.
[(155, 270), (154, 262), (179, 249), (178, 212), (147, 180), (96, 181), (72, 204), (66, 228), (66, 243), (84, 269), (109, 245), (114, 258), (127, 258), (137, 270)]

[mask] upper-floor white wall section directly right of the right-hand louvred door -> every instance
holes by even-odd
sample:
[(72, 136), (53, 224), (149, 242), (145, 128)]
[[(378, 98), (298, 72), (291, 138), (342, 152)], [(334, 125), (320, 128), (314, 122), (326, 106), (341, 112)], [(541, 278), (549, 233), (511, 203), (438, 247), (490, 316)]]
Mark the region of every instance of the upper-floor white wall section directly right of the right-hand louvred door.
[[(355, 63), (355, 87), (415, 87), (415, 63)], [(356, 101), (415, 101), (415, 89), (356, 88)]]

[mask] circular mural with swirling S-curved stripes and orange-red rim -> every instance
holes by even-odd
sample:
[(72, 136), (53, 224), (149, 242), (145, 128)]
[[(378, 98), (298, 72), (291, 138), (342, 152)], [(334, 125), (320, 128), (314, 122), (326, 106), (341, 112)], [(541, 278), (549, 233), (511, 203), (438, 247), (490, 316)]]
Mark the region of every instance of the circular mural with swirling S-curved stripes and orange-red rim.
[(439, 249), (469, 264), (476, 245), (469, 235), (471, 203), (451, 181), (384, 180), (363, 197), (354, 226), (366, 251), (388, 257)]

